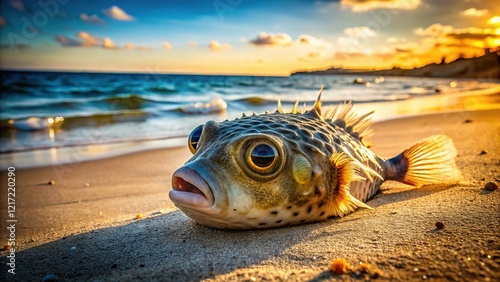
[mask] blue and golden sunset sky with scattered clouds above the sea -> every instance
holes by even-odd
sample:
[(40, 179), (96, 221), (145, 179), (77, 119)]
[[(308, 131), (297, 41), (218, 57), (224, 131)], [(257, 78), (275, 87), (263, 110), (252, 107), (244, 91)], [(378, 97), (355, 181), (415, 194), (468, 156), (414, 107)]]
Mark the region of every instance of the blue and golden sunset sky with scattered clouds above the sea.
[(288, 75), (500, 45), (491, 0), (6, 0), (1, 69)]

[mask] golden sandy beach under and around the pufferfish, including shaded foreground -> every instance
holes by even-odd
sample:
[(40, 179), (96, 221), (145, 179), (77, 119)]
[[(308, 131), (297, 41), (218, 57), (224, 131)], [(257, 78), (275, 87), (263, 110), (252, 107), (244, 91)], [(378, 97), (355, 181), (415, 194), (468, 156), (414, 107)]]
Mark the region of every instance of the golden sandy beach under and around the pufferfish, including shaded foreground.
[[(7, 281), (358, 280), (334, 275), (335, 258), (379, 268), (380, 281), (500, 281), (500, 110), (381, 122), (373, 150), (398, 154), (420, 138), (454, 139), (464, 180), (414, 189), (386, 182), (368, 205), (341, 219), (253, 231), (196, 224), (168, 199), (187, 148), (16, 171), (16, 274)], [(471, 120), (472, 122), (465, 122)], [(487, 154), (480, 155), (482, 150)], [(1, 173), (6, 222), (6, 172)], [(50, 180), (55, 185), (46, 185)], [(86, 185), (86, 184), (89, 185)], [(136, 214), (142, 219), (134, 219)], [(444, 223), (438, 230), (436, 222)], [(2, 227), (2, 241), (7, 240)]]

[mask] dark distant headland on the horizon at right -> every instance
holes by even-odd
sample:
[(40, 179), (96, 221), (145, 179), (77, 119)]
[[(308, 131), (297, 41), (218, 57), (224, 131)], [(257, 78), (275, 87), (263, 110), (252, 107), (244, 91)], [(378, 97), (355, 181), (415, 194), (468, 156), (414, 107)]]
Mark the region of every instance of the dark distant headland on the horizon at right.
[(464, 77), (482, 79), (500, 79), (500, 48), (486, 50), (485, 54), (475, 58), (458, 58), (452, 62), (432, 63), (414, 69), (394, 67), (385, 70), (355, 70), (332, 67), (326, 70), (296, 71), (291, 75), (376, 75), (376, 76), (414, 76), (414, 77)]

